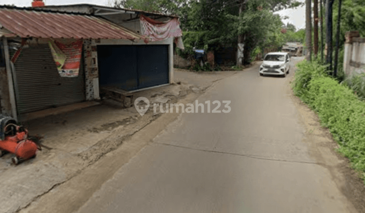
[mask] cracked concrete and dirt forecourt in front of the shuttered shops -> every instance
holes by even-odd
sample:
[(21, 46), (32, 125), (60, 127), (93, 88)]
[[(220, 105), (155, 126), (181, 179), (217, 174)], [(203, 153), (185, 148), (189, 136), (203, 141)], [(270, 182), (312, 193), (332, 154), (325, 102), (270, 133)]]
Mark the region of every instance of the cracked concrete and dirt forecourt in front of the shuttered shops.
[[(175, 82), (180, 81), (181, 78), (176, 78), (180, 73), (175, 72)], [(233, 73), (215, 74), (209, 78), (194, 73), (184, 72), (183, 75), (184, 82), (180, 84), (139, 91), (134, 96), (147, 97), (150, 106), (176, 103), (187, 96), (194, 98), (202, 94), (215, 81)], [(123, 109), (121, 103), (112, 100), (103, 103), (25, 123), (31, 135), (44, 136), (43, 144), (53, 149), (43, 149), (35, 159), (18, 166), (12, 165), (10, 154), (0, 159), (0, 213), (26, 209), (103, 156), (123, 147), (126, 140), (161, 116), (154, 113), (152, 107), (141, 117), (134, 107)], [(134, 145), (130, 143), (129, 146)], [(124, 157), (127, 159), (132, 154)]]

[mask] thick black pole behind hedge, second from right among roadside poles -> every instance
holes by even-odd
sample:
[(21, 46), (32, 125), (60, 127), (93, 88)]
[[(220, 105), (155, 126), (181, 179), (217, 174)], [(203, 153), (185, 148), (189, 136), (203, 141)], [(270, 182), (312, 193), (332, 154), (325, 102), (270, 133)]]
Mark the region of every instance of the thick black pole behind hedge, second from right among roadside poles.
[(330, 64), (329, 69), (332, 70), (332, 5), (334, 0), (326, 0), (326, 43), (327, 55), (326, 63)]

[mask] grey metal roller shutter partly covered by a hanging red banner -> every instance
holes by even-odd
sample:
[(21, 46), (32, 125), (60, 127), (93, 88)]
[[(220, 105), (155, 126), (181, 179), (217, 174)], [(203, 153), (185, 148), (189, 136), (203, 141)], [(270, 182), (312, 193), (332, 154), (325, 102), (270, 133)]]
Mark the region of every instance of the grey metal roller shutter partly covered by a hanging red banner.
[(83, 57), (75, 78), (59, 76), (48, 45), (24, 48), (14, 65), (19, 115), (85, 100)]

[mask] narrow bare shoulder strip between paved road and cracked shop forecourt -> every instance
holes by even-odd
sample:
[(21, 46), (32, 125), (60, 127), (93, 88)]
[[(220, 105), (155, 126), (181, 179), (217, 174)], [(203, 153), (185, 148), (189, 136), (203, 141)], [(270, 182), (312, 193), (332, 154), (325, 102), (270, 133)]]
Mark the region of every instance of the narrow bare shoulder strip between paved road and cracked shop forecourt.
[[(222, 78), (234, 75), (234, 72), (225, 74)], [(216, 78), (216, 77), (215, 77)], [(204, 84), (200, 91), (192, 92), (184, 96), (177, 103), (192, 103), (206, 89), (213, 86), (221, 78), (212, 81), (210, 85)], [(194, 91), (194, 90), (193, 90)], [(150, 108), (151, 109), (151, 108)], [(54, 185), (50, 190), (41, 196), (35, 197), (31, 203), (21, 208), (17, 212), (74, 212), (79, 209), (95, 191), (100, 189), (102, 184), (111, 179), (114, 173), (124, 164), (128, 163), (143, 147), (148, 145), (152, 139), (160, 133), (166, 126), (174, 121), (179, 113), (154, 114), (149, 110), (146, 115), (148, 118), (143, 126), (133, 135), (123, 137), (123, 144), (116, 149), (94, 159), (94, 163), (80, 169), (75, 176), (60, 184)], [(155, 117), (150, 121), (150, 117)], [(144, 117), (144, 116), (143, 116)], [(142, 118), (143, 119), (143, 118)], [(114, 131), (109, 140), (120, 140), (121, 131)]]

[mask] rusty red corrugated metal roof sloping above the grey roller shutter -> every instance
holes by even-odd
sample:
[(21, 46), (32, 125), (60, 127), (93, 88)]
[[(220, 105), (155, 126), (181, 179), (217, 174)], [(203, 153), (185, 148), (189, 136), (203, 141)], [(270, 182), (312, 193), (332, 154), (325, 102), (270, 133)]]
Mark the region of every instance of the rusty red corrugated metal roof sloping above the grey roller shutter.
[(58, 12), (0, 8), (0, 25), (21, 38), (144, 39), (102, 18)]

